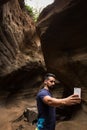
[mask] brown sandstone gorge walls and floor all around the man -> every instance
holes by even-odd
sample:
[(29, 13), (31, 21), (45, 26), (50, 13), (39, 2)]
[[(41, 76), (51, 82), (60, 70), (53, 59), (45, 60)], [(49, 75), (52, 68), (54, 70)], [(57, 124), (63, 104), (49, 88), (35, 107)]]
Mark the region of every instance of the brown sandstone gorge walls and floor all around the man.
[(0, 130), (35, 130), (35, 98), (46, 72), (58, 79), (55, 97), (82, 90), (80, 105), (56, 109), (56, 130), (87, 129), (86, 3), (54, 0), (35, 23), (24, 0), (0, 0)]

